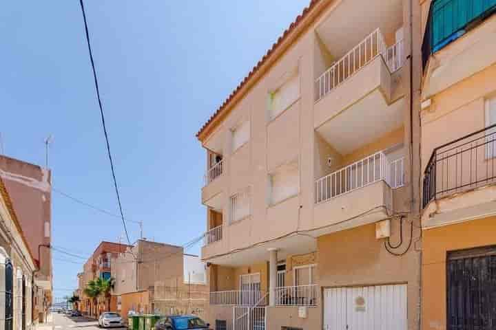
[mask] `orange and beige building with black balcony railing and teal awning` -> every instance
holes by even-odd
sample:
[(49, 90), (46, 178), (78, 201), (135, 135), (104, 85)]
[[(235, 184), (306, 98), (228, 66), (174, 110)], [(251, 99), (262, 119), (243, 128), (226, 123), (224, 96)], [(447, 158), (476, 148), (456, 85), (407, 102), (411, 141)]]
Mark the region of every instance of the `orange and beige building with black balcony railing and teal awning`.
[(422, 5), (422, 329), (496, 325), (496, 1)]

